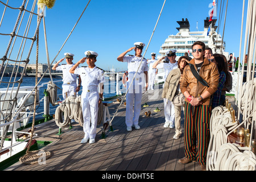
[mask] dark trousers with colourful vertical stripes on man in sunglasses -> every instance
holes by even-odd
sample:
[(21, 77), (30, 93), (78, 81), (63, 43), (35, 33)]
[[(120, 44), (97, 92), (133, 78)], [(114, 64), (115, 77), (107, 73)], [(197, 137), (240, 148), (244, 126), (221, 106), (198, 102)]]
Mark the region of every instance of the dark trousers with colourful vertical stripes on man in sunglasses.
[(184, 104), (184, 151), (189, 159), (206, 164), (210, 139), (210, 114), (212, 106)]

